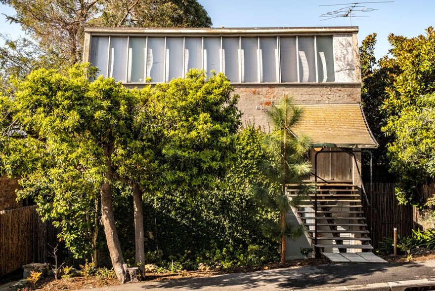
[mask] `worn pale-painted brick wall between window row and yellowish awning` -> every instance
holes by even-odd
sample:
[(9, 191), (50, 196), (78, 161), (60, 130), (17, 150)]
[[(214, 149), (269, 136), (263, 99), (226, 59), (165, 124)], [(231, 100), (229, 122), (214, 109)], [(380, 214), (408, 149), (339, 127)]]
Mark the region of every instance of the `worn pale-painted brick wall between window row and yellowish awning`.
[(238, 109), (243, 112), (242, 121), (253, 122), (268, 130), (264, 114), (271, 102), (285, 93), (294, 96), (297, 104), (321, 103), (358, 103), (361, 101), (360, 84), (298, 84), (288, 86), (238, 86), (234, 85), (234, 94), (240, 96)]

